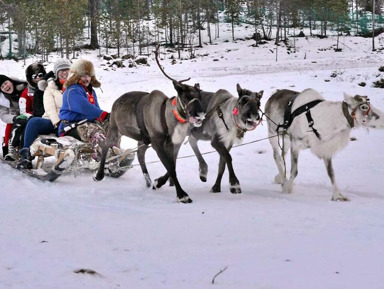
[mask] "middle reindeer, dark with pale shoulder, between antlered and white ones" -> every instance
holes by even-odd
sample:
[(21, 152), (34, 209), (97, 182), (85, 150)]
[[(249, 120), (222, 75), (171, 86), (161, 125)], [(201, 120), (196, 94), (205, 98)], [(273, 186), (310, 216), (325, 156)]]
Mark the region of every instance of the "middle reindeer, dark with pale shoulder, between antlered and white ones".
[(264, 91), (252, 92), (236, 86), (239, 97), (234, 97), (227, 90), (220, 89), (208, 95), (209, 104), (207, 116), (203, 125), (191, 129), (189, 143), (199, 161), (200, 179), (207, 180), (208, 165), (203, 159), (197, 142), (199, 140), (211, 141), (213, 148), (220, 154), (218, 175), (211, 192), (221, 192), (221, 179), (228, 167), (230, 191), (240, 194), (240, 182), (236, 177), (229, 153), (232, 146), (241, 142), (247, 131), (254, 130), (260, 123), (260, 99)]

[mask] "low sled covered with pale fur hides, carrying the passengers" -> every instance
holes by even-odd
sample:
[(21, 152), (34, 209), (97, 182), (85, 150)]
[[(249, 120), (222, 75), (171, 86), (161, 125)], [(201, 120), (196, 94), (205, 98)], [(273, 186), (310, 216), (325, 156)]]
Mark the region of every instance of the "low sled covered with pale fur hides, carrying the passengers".
[[(43, 180), (53, 182), (62, 174), (79, 175), (85, 171), (96, 171), (99, 161), (92, 158), (92, 144), (84, 143), (71, 136), (57, 137), (55, 135), (39, 136), (30, 147), (34, 157), (32, 169), (20, 169), (23, 173)], [(109, 148), (105, 163), (105, 174), (112, 178), (121, 177), (132, 168), (135, 153), (116, 146)], [(17, 161), (7, 162), (16, 168)]]

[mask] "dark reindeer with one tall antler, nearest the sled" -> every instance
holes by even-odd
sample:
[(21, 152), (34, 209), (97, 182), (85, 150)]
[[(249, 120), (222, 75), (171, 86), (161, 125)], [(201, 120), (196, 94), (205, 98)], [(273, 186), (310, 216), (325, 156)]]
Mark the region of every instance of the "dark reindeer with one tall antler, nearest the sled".
[[(120, 96), (112, 106), (100, 167), (94, 179), (103, 179), (108, 147), (118, 143), (121, 136), (124, 135), (138, 141), (138, 160), (143, 173), (146, 171), (146, 168), (143, 169), (143, 165), (145, 167), (145, 150), (151, 144), (173, 180), (178, 201), (191, 203), (192, 199), (181, 188), (177, 179), (176, 157), (189, 126), (199, 127), (205, 118), (205, 111), (200, 103), (201, 90), (199, 84), (194, 86), (183, 84), (189, 79), (177, 81), (169, 77), (159, 64), (158, 50), (159, 46), (155, 51), (156, 62), (162, 73), (172, 80), (177, 96), (168, 98), (159, 90), (152, 92), (132, 91)], [(148, 175), (148, 172), (146, 173)]]

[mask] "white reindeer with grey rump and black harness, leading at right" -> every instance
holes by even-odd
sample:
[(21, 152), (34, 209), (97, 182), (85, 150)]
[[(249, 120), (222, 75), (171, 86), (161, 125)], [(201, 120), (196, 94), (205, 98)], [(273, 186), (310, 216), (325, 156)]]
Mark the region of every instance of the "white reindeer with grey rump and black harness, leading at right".
[[(275, 182), (283, 192), (293, 192), (298, 174), (299, 152), (310, 148), (324, 161), (332, 183), (332, 201), (348, 201), (339, 190), (332, 166), (334, 154), (345, 147), (354, 127), (384, 128), (384, 114), (366, 96), (344, 94), (344, 101), (327, 101), (313, 89), (303, 92), (279, 90), (265, 105), (269, 141), (278, 168)], [(280, 129), (283, 129), (281, 132)], [(274, 137), (280, 134), (279, 139)], [(282, 144), (282, 149), (280, 145)], [(284, 156), (291, 151), (291, 173), (287, 180)]]

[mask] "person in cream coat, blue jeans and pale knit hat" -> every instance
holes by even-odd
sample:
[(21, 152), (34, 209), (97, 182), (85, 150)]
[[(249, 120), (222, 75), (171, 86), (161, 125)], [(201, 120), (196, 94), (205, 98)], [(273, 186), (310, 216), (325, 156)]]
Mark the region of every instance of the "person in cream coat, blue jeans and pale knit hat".
[[(55, 61), (53, 71), (46, 74), (44, 79), (38, 83), (39, 91), (43, 91), (43, 110), (42, 117), (33, 117), (27, 123), (24, 131), (24, 145), (19, 151), (21, 156), (17, 164), (18, 169), (31, 169), (32, 156), (29, 147), (39, 135), (48, 135), (57, 132), (60, 124), (59, 112), (63, 103), (64, 83), (69, 74), (71, 62), (68, 59), (60, 58)], [(36, 94), (35, 94), (36, 96)], [(34, 109), (35, 101), (34, 97)], [(40, 104), (41, 105), (41, 104)]]

